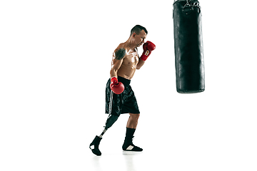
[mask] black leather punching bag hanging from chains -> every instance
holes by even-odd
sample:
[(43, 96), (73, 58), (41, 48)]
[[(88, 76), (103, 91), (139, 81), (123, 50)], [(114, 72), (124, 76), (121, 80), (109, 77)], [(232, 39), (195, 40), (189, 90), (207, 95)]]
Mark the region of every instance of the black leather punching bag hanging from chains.
[(176, 90), (199, 93), (205, 89), (201, 10), (197, 0), (173, 3)]

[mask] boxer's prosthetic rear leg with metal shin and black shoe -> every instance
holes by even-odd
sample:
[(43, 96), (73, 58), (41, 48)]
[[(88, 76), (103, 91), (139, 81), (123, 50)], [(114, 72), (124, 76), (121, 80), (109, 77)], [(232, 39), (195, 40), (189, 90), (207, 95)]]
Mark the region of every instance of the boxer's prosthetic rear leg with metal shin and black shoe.
[(116, 120), (118, 120), (118, 118), (119, 118), (119, 115), (109, 115), (109, 117), (106, 120), (106, 126), (104, 127), (104, 131), (101, 133), (100, 136), (96, 135), (93, 142), (91, 142), (91, 144), (89, 145), (89, 148), (92, 150), (92, 152), (95, 155), (98, 155), (98, 156), (101, 155), (101, 151), (99, 150), (100, 141), (101, 141), (104, 133), (106, 133), (106, 130), (111, 128), (111, 126), (114, 125), (114, 123), (116, 122)]

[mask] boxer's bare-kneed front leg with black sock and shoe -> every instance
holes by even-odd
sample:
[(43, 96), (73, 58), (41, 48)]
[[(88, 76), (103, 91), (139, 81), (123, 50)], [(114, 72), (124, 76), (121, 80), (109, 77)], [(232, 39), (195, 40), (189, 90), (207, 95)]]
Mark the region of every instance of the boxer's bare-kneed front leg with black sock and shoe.
[(142, 151), (140, 147), (136, 147), (136, 145), (133, 145), (132, 138), (133, 134), (136, 131), (136, 126), (138, 124), (138, 114), (129, 113), (129, 120), (126, 126), (126, 138), (124, 140), (124, 145), (122, 145), (122, 149), (125, 151)]

